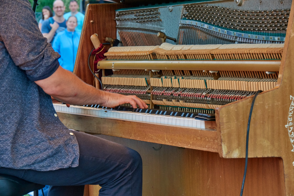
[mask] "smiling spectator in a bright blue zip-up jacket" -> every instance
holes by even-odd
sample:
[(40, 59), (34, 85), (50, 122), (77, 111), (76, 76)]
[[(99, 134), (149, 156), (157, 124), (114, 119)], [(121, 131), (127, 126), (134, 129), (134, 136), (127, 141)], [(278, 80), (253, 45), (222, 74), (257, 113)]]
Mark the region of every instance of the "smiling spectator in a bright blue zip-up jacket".
[(74, 71), (78, 43), (81, 37), (81, 33), (75, 31), (77, 25), (76, 17), (69, 17), (66, 21), (66, 29), (57, 33), (52, 44), (53, 49), (61, 56), (58, 59), (61, 67), (71, 72)]

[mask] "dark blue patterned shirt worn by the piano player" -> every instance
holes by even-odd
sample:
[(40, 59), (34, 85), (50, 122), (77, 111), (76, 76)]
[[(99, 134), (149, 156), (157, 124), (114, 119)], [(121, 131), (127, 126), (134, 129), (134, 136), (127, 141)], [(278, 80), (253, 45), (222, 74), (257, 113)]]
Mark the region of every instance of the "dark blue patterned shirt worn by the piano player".
[(59, 67), (28, 0), (0, 3), (0, 167), (56, 170), (78, 166), (74, 135), (34, 81)]

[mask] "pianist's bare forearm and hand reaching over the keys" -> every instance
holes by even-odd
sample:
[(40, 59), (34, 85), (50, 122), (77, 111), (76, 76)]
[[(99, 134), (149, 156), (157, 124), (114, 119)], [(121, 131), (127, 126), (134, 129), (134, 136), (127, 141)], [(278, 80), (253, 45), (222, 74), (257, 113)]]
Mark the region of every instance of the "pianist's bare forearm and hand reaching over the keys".
[(35, 81), (35, 83), (45, 93), (64, 103), (74, 105), (99, 104), (106, 107), (130, 103), (133, 108), (136, 108), (137, 105), (139, 108), (148, 107), (143, 100), (136, 96), (124, 96), (96, 89), (61, 66), (48, 78)]

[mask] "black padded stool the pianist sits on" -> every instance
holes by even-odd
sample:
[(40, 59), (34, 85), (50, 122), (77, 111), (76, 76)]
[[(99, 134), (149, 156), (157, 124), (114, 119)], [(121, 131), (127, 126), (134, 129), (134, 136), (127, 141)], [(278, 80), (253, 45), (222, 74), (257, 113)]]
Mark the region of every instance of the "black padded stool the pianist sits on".
[(38, 196), (38, 190), (44, 187), (45, 185), (28, 182), (15, 176), (0, 174), (1, 196), (23, 196), (32, 191), (34, 196)]

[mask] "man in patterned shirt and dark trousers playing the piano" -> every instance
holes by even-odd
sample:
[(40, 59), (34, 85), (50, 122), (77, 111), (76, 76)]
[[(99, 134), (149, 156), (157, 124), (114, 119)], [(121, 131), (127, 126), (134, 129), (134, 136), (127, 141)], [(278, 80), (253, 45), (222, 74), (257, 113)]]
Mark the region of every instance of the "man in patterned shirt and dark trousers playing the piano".
[(97, 90), (58, 63), (28, 0), (0, 5), (0, 174), (50, 185), (49, 196), (142, 194), (142, 160), (125, 146), (68, 130), (51, 96), (65, 103), (147, 108), (136, 96)]

